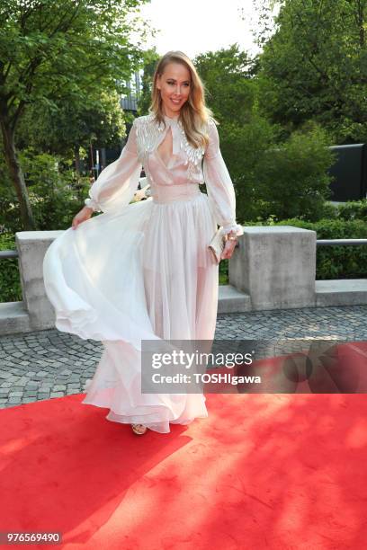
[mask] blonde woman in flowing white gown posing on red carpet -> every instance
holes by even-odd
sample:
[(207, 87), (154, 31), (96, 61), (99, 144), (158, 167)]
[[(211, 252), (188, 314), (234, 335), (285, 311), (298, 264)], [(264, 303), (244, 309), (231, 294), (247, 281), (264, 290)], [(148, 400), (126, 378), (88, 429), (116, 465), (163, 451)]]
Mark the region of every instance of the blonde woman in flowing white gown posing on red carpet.
[[(130, 203), (142, 166), (152, 197)], [(134, 120), (43, 263), (58, 330), (103, 342), (83, 404), (109, 408), (107, 420), (139, 435), (208, 416), (202, 394), (141, 393), (141, 340), (213, 339), (218, 264), (208, 244), (223, 226), (221, 257), (231, 257), (243, 234), (235, 205), (200, 77), (170, 51), (157, 64), (149, 114)]]

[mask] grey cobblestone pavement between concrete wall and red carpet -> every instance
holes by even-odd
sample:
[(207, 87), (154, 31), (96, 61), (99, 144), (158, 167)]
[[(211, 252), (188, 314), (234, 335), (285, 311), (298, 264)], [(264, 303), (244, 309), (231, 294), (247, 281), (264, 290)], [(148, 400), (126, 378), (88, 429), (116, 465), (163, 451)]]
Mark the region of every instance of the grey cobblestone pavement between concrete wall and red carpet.
[[(367, 341), (367, 306), (218, 315), (216, 339)], [(0, 408), (85, 392), (103, 345), (57, 329), (0, 337)]]

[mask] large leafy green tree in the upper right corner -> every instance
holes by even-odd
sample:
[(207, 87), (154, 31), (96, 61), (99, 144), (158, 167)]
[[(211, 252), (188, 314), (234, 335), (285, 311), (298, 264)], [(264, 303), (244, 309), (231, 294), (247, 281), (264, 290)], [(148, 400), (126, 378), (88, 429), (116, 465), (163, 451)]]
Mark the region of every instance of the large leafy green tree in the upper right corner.
[(367, 0), (282, 0), (260, 58), (259, 104), (288, 133), (317, 121), (334, 142), (367, 140)]

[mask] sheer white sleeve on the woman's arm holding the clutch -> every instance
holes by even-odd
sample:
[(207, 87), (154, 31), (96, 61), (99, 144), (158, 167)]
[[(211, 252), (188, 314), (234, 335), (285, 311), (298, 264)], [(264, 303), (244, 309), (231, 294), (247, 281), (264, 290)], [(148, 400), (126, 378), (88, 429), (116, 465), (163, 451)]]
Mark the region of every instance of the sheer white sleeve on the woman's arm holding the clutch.
[(208, 192), (210, 209), (223, 233), (243, 235), (243, 227), (236, 222), (236, 195), (228, 168), (219, 148), (219, 134), (214, 121), (209, 125), (209, 145), (206, 148), (202, 171)]

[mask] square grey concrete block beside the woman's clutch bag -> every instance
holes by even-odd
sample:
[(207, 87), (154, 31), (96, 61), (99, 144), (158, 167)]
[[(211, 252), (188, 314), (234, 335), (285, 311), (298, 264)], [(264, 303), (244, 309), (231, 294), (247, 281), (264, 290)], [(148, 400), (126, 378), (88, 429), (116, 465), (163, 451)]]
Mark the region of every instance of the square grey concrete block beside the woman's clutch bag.
[(247, 226), (229, 261), (229, 284), (252, 309), (316, 306), (316, 232), (293, 226)]

